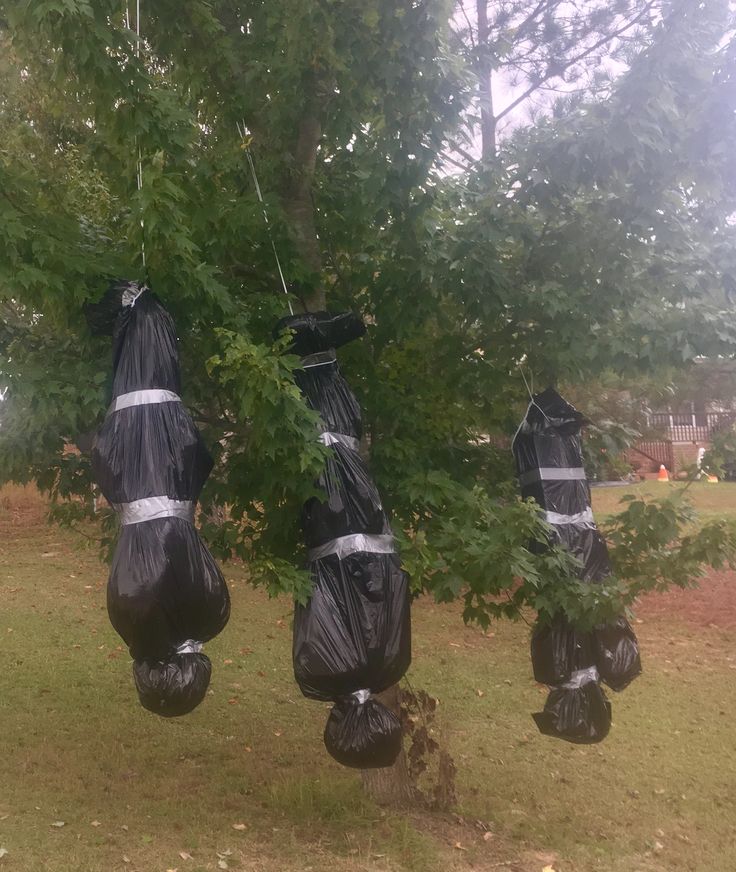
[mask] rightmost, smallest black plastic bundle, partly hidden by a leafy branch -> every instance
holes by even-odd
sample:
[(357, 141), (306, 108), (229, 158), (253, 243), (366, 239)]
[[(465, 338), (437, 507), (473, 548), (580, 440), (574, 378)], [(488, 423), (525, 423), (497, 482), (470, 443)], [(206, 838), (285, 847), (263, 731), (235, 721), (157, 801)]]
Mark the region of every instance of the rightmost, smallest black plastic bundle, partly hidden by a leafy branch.
[[(611, 565), (583, 469), (584, 423), (577, 409), (548, 388), (533, 397), (512, 448), (522, 496), (539, 503), (554, 530), (553, 542), (578, 558), (580, 577), (594, 584), (611, 574)], [(541, 732), (571, 742), (604, 739), (611, 706), (600, 682), (623, 690), (641, 672), (639, 646), (626, 618), (584, 633), (559, 615), (535, 628), (531, 654), (535, 679), (553, 688), (544, 711), (534, 715)]]

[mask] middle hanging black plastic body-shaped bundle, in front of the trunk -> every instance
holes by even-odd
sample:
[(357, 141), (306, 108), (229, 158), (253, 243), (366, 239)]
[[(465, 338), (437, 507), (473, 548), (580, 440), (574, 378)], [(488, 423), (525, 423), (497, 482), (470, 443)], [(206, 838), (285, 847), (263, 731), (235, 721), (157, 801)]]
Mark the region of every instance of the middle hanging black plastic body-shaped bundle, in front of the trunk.
[(395, 684), (411, 661), (409, 579), (391, 526), (358, 453), (360, 407), (340, 374), (335, 349), (363, 335), (351, 314), (284, 318), (302, 356), (296, 380), (320, 414), (331, 456), (318, 485), (324, 499), (302, 511), (312, 595), (294, 614), (294, 675), (302, 693), (334, 701), (324, 742), (345, 766), (390, 766), (401, 750), (401, 724), (373, 694)]

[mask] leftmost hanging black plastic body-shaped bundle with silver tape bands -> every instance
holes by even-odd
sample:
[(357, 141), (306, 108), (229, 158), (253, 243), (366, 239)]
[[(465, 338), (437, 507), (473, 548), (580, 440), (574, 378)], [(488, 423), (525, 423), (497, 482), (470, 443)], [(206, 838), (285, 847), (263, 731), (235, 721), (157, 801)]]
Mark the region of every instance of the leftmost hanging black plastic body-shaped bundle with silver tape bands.
[(183, 715), (209, 686), (202, 643), (230, 616), (194, 527), (212, 458), (179, 398), (174, 322), (151, 291), (116, 282), (86, 314), (95, 332), (113, 334), (113, 399), (92, 446), (95, 479), (121, 520), (107, 610), (134, 658), (141, 704)]

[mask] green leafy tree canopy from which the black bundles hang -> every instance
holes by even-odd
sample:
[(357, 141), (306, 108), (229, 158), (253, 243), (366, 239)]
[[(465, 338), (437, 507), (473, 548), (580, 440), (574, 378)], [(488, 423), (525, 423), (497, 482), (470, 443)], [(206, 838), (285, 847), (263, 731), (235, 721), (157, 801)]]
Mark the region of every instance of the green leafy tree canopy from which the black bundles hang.
[[(298, 506), (323, 453), (298, 362), (271, 338), (285, 298), (242, 122), (294, 303), (369, 325), (342, 360), (417, 586), (481, 621), (523, 604), (583, 620), (724, 559), (724, 526), (673, 551), (682, 509), (638, 502), (614, 530), (619, 580), (582, 599), (569, 558), (526, 548), (546, 531), (503, 442), (520, 366), (579, 383), (736, 350), (728, 4), (577, 23), (546, 5), (556, 24), (519, 0), (479, 53), (444, 0), (144, 0), (140, 42), (118, 2), (0, 0), (0, 479), (37, 480), (67, 519), (89, 508), (87, 462), (65, 444), (104, 414), (109, 349), (82, 305), (112, 275), (145, 277), (217, 455), (206, 532), (255, 580), (305, 594)], [(580, 93), (500, 142), (494, 127), (448, 172), (482, 122), (483, 77), (524, 57), (540, 86), (581, 70), (622, 16), (638, 28), (624, 72), (597, 89), (586, 64)]]

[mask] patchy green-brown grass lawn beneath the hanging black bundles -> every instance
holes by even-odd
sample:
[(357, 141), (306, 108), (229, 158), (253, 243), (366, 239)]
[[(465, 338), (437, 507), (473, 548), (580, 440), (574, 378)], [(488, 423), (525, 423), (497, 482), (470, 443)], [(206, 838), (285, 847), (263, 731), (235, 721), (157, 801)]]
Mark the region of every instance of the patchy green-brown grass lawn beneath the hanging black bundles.
[[(736, 510), (733, 485), (691, 490)], [(596, 490), (596, 508), (625, 492)], [(33, 494), (0, 491), (0, 872), (736, 867), (736, 622), (643, 607), (645, 673), (613, 697), (606, 742), (578, 747), (530, 718), (544, 693), (525, 625), (484, 634), (417, 603), (409, 678), (441, 701), (458, 807), (398, 814), (324, 751), (328, 707), (294, 684), (288, 601), (226, 567), (233, 616), (207, 646), (211, 694), (167, 721), (138, 705), (106, 575)]]

